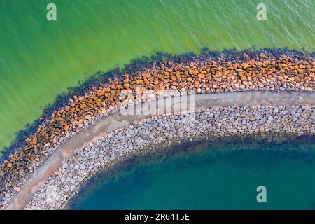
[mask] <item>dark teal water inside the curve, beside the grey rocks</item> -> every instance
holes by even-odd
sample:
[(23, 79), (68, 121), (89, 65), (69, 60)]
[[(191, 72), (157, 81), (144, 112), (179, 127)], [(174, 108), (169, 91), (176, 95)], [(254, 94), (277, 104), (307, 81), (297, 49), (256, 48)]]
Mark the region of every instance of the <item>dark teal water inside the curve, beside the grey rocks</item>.
[(315, 209), (314, 170), (314, 139), (194, 146), (99, 175), (70, 209)]

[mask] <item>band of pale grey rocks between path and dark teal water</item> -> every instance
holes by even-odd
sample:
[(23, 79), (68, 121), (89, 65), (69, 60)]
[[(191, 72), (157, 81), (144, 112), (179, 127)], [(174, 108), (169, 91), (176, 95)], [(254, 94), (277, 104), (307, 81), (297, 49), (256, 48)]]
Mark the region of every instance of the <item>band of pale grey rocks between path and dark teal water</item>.
[(315, 134), (315, 106), (212, 107), (141, 120), (81, 149), (50, 176), (26, 209), (63, 209), (87, 179), (130, 153), (179, 139), (266, 132)]

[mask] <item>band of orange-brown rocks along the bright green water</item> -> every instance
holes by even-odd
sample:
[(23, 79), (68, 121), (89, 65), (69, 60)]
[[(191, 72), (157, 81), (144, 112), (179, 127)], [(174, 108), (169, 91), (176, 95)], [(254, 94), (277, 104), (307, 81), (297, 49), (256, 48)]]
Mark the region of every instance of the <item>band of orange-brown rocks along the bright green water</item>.
[(66, 139), (99, 118), (117, 111), (127, 92), (160, 90), (198, 93), (251, 90), (315, 90), (315, 61), (296, 52), (241, 52), (174, 57), (125, 69), (117, 76), (84, 87), (64, 106), (50, 111), (36, 130), (22, 139), (0, 165), (0, 206), (18, 193), (25, 181)]

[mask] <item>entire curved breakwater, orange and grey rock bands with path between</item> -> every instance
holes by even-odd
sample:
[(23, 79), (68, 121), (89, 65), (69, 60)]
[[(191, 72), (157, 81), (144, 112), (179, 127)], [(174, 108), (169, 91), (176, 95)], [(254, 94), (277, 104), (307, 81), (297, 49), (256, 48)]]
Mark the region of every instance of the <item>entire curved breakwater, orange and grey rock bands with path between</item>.
[[(207, 134), (265, 132), (314, 134), (314, 57), (296, 52), (288, 55), (278, 53), (271, 51), (230, 55), (218, 53), (214, 57), (213, 53), (204, 52), (202, 55), (174, 57), (164, 62), (148, 62), (146, 66), (131, 69), (129, 72), (126, 70), (108, 80), (99, 80), (87, 85), (82, 92), (70, 96), (62, 106), (53, 108), (38, 123), (36, 131), (25, 137), (25, 140), (15, 142), (15, 150), (1, 165), (1, 207), (8, 205), (8, 209), (22, 209), (29, 203), (27, 206), (29, 208), (63, 208), (80, 185), (99, 169), (108, 167), (112, 160), (116, 160), (120, 155), (133, 150), (141, 151), (145, 146), (158, 144), (162, 139), (171, 141)], [(140, 98), (137, 98), (137, 91), (140, 92)], [(159, 97), (167, 97), (167, 94), (176, 98), (176, 95), (183, 92), (195, 95), (193, 102), (197, 113), (188, 109), (188, 112), (181, 110), (180, 113), (153, 119), (151, 117), (154, 114), (146, 115), (142, 111), (133, 118), (129, 114), (125, 118), (119, 115), (115, 118), (118, 112), (121, 116), (122, 105), (128, 109), (132, 102), (145, 105), (151, 101), (150, 99), (156, 98), (159, 101)], [(214, 94), (220, 92), (222, 93)], [(128, 98), (130, 95), (136, 97), (130, 99)], [(164, 107), (163, 110), (164, 113)], [(185, 113), (197, 116), (196, 123), (187, 122), (190, 118), (182, 118), (185, 117)], [(115, 119), (110, 121), (113, 118)], [(222, 118), (225, 119), (224, 122)], [(109, 120), (106, 123), (103, 119)], [(178, 123), (176, 120), (181, 120), (179, 123), (182, 126), (175, 130), (159, 125), (152, 127), (156, 125), (151, 119), (160, 120), (158, 123), (169, 123), (173, 127)], [(138, 127), (140, 130), (131, 131), (127, 136), (134, 134), (132, 137), (137, 137), (137, 133), (148, 132), (141, 130), (146, 127), (140, 127), (139, 124), (137, 127), (130, 125), (139, 120), (142, 120), (140, 124), (148, 123), (148, 127), (155, 129), (155, 132), (152, 132), (153, 136), (149, 139), (138, 136), (145, 140), (139, 141), (140, 145), (137, 147), (131, 145), (131, 148), (126, 149), (119, 145), (125, 145), (126, 139), (121, 138), (119, 134), (116, 136), (114, 134), (116, 132)], [(161, 139), (162, 133), (166, 135)], [(99, 139), (102, 138), (105, 140), (100, 142)], [(73, 172), (68, 170), (69, 167), (64, 167), (65, 165), (71, 167), (72, 164), (69, 164), (71, 161), (83, 160), (80, 153), (85, 150), (104, 151), (107, 154), (109, 153), (107, 144), (118, 140), (121, 141), (118, 142), (118, 148), (121, 150), (114, 144), (115, 147), (111, 147), (113, 148), (111, 156), (104, 158), (106, 162), (94, 161), (99, 165), (91, 168), (87, 168), (88, 163), (84, 167), (79, 166), (81, 172)], [(91, 149), (89, 144), (96, 145)], [(101, 144), (102, 147), (97, 144)], [(89, 156), (95, 157), (94, 154)], [(54, 195), (55, 191), (51, 191), (52, 186), (62, 184), (69, 186), (69, 183), (64, 181), (69, 179), (69, 176), (62, 175), (74, 174), (78, 179), (69, 189), (64, 188), (68, 190), (63, 193), (64, 196)], [(55, 179), (50, 175), (55, 176)], [(63, 181), (60, 182), (57, 178)], [(58, 202), (53, 199), (42, 200), (45, 193), (56, 196)], [(34, 198), (31, 200), (32, 195)]]

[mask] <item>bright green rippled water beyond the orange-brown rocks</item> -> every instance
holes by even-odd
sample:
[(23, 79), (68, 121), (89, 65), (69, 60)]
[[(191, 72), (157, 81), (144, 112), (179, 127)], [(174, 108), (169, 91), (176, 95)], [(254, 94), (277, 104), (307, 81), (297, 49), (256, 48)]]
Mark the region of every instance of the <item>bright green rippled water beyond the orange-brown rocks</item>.
[[(57, 21), (46, 20), (50, 2)], [(267, 21), (256, 20), (258, 3)], [(312, 0), (1, 0), (0, 151), (67, 87), (155, 50), (313, 51), (314, 8)]]

